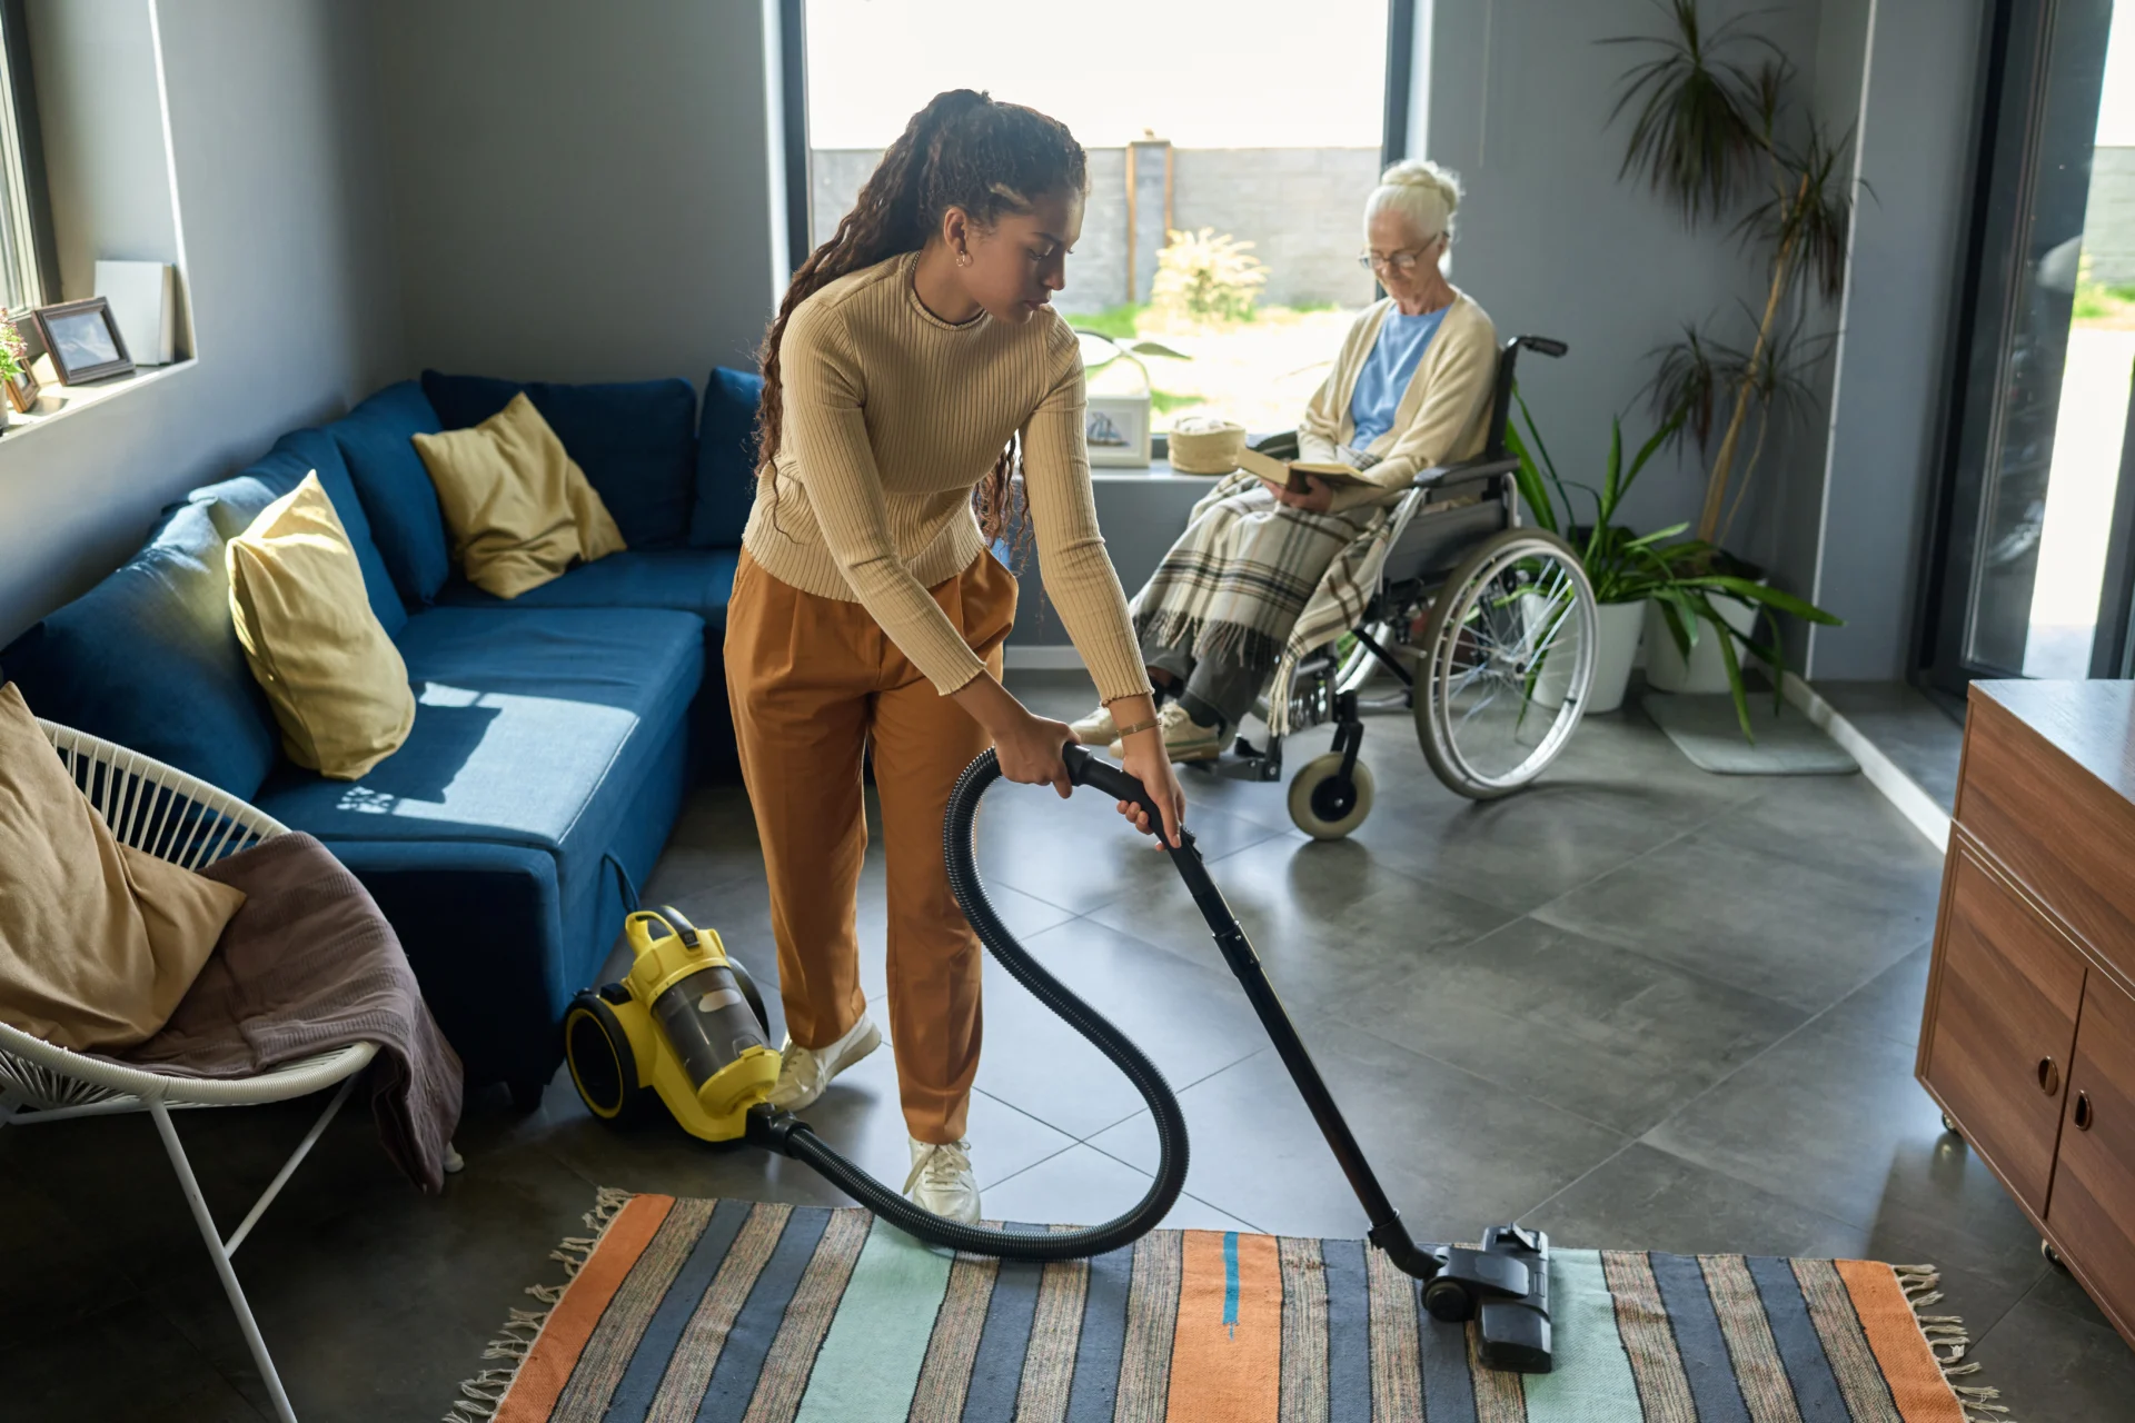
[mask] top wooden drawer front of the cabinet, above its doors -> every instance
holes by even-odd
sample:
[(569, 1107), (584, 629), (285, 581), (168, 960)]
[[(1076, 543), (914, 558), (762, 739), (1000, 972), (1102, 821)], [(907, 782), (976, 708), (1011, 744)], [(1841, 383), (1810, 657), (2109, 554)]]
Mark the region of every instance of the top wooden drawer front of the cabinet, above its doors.
[(1996, 698), (1971, 702), (1956, 821), (2092, 947), (2135, 943), (2126, 798)]

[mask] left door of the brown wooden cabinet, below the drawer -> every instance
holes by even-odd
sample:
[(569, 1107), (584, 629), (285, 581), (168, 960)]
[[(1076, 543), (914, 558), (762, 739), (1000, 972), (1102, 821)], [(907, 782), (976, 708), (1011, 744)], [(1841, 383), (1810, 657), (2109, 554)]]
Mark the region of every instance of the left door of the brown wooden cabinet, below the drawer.
[(2043, 1216), (2086, 962), (1962, 834), (1943, 875), (1919, 1075)]

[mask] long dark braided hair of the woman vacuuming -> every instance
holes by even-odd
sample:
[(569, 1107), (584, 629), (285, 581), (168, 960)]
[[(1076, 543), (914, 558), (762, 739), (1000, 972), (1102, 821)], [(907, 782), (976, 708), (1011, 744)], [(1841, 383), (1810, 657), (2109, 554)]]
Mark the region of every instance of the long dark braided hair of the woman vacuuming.
[[(1085, 192), (1089, 169), (1082, 145), (1068, 126), (1023, 105), (1003, 105), (978, 90), (935, 94), (912, 115), (905, 132), (888, 147), (860, 188), (852, 211), (839, 218), (831, 241), (816, 247), (779, 303), (779, 316), (764, 337), (764, 399), (756, 407), (762, 454), (756, 478), (769, 478), (777, 493), (779, 341), (794, 307), (845, 273), (873, 267), (899, 252), (918, 252), (942, 224), (942, 213), (961, 207), (980, 228), (1006, 213), (1031, 211), (1031, 201), (1050, 192)], [(1010, 478), (1016, 439), (1010, 437), (993, 474), (974, 493), (986, 540), (1001, 538), (1010, 518)]]

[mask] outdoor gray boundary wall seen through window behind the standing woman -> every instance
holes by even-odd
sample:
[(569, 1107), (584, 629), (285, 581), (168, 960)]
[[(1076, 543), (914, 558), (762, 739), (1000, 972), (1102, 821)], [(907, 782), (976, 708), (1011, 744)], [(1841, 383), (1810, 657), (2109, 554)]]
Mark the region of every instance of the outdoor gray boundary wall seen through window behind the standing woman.
[[(809, 192), (813, 241), (828, 241), (852, 209), (882, 149), (813, 149)], [(1262, 301), (1298, 305), (1332, 301), (1360, 307), (1373, 297), (1356, 267), (1364, 245), (1364, 196), (1379, 177), (1379, 149), (1366, 147), (1236, 147), (1172, 149), (1172, 226), (1215, 228), (1253, 243), (1268, 267)], [(1142, 145), (1136, 158), (1134, 294), (1149, 301), (1164, 226), (1164, 147)], [(1089, 149), (1089, 205), (1082, 241), (1068, 262), (1063, 311), (1102, 311), (1127, 299), (1127, 149)]]

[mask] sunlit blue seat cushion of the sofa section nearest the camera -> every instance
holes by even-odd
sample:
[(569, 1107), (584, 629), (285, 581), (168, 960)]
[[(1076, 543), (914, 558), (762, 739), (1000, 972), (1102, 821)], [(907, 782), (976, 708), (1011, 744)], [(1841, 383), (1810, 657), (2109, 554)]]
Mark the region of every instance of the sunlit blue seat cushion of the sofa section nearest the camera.
[(399, 638), (406, 745), (354, 783), (280, 766), (256, 804), (335, 841), (491, 841), (598, 873), (705, 674), (705, 623), (647, 608), (433, 608)]

